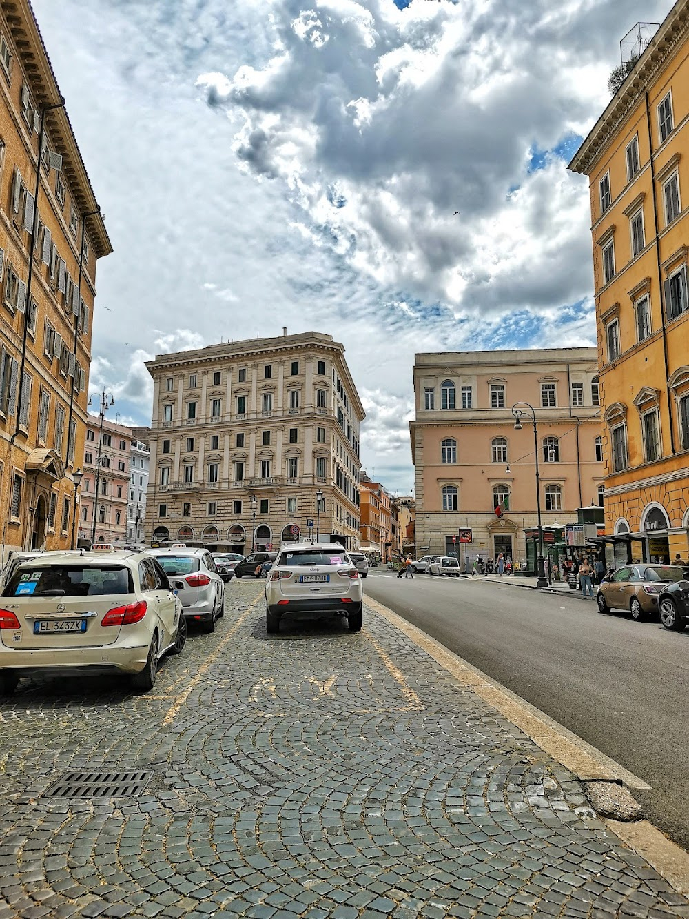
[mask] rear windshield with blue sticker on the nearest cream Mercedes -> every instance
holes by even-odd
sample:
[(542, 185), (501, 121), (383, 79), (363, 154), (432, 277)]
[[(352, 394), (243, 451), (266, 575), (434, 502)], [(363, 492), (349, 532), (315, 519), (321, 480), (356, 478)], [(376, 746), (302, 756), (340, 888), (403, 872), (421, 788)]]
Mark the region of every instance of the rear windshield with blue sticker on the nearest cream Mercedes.
[(9, 579), (3, 596), (109, 596), (132, 594), (128, 568), (112, 565), (54, 565), (32, 568), (23, 564)]

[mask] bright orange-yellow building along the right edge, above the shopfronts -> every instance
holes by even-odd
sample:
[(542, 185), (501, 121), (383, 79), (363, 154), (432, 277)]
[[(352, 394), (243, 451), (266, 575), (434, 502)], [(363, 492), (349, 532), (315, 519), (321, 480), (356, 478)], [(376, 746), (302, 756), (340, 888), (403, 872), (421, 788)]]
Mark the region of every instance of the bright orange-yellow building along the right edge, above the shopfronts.
[(605, 525), (617, 562), (689, 555), (687, 52), (681, 0), (570, 163), (590, 179)]

